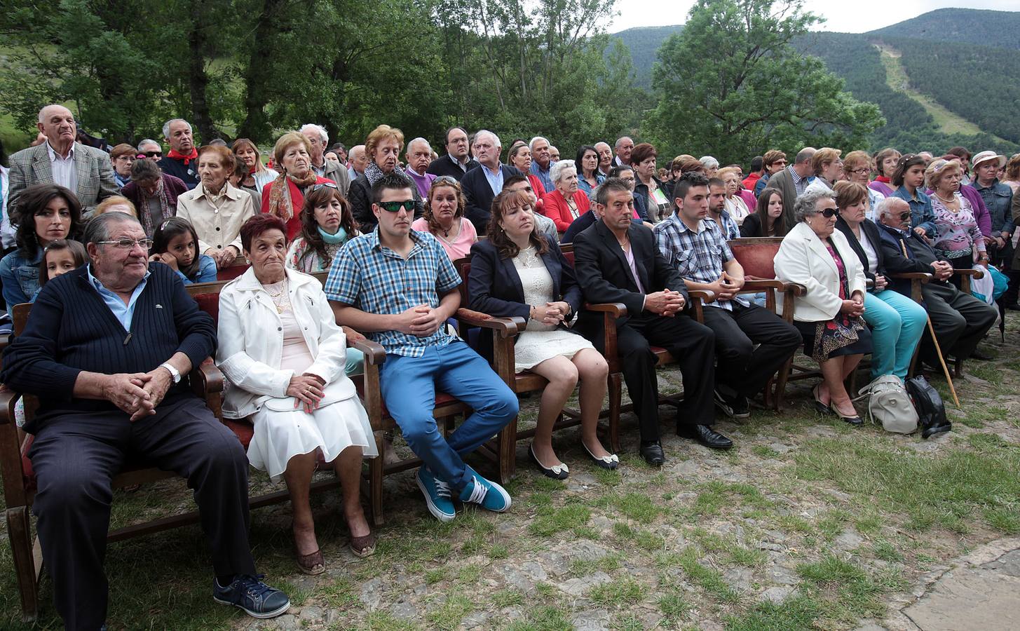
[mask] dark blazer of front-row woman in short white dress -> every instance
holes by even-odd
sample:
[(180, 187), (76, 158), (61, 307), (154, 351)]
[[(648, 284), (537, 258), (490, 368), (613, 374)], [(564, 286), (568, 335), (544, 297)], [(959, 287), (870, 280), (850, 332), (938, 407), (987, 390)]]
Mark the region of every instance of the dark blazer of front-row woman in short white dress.
[[(549, 251), (542, 261), (553, 277), (553, 301), (562, 300), (570, 305), (573, 313), (581, 307), (580, 286), (573, 268), (563, 257), (560, 247), (549, 244)], [(524, 287), (513, 259), (501, 258), (493, 242), (479, 241), (471, 246), (471, 271), (467, 277), (468, 305), (470, 309), (488, 313), (497, 318), (519, 316), (527, 321), (530, 306), (524, 302)], [(565, 325), (562, 328), (573, 331)], [(482, 355), (491, 355), (492, 336), (480, 339)]]

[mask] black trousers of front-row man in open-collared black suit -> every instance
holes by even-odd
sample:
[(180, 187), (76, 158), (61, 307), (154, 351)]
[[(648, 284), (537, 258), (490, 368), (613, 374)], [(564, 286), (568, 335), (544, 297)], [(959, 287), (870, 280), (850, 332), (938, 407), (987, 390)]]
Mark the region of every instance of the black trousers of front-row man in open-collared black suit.
[[(594, 335), (594, 344), (600, 353), (605, 353), (601, 327)], [(683, 374), (683, 404), (677, 411), (677, 428), (713, 424), (715, 334), (712, 329), (682, 313), (671, 318), (642, 313), (616, 327), (623, 380), (634, 405), (641, 439), (658, 440), (660, 435), (659, 381), (655, 374), (656, 357), (650, 346), (669, 351)]]

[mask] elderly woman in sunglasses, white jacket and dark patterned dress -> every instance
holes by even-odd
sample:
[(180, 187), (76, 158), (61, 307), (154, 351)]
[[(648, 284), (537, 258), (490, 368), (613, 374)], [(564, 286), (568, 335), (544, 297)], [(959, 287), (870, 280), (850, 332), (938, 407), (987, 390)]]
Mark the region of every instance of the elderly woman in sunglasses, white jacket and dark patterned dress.
[(815, 407), (860, 425), (844, 380), (871, 352), (871, 332), (861, 318), (867, 286), (860, 259), (835, 230), (838, 212), (829, 191), (798, 198), (797, 224), (779, 246), (775, 277), (808, 288), (794, 301), (794, 324), (804, 337), (805, 355), (821, 367), (822, 382), (812, 390)]

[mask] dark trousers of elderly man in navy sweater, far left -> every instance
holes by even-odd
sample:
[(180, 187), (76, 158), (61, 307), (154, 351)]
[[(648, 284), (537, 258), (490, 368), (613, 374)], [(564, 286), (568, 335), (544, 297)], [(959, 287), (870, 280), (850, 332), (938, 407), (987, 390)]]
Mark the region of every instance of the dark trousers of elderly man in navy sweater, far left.
[(255, 574), (248, 545), (248, 458), (234, 432), (198, 398), (164, 401), (155, 415), (135, 423), (120, 411), (44, 421), (30, 457), (39, 484), (34, 512), (43, 561), (67, 629), (95, 631), (106, 619), (103, 558), (111, 480), (129, 457), (187, 478), (216, 575)]

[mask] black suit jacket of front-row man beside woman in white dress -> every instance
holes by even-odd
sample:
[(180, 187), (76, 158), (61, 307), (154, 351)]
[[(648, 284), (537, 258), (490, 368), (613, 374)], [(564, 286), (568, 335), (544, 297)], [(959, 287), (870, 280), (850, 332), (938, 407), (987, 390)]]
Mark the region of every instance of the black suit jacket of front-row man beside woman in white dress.
[[(679, 292), (686, 300), (687, 286), (676, 268), (667, 263), (659, 252), (652, 230), (631, 225), (627, 234), (630, 236), (634, 267), (645, 292), (652, 294), (669, 288)], [(574, 236), (573, 245), (574, 273), (584, 300), (590, 303), (623, 303), (628, 315), (619, 318), (617, 326), (640, 314), (645, 307), (646, 295), (638, 288), (623, 249), (606, 224), (596, 221)], [(577, 325), (585, 331), (594, 330), (593, 327), (602, 325), (602, 314), (582, 311)]]

